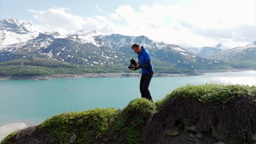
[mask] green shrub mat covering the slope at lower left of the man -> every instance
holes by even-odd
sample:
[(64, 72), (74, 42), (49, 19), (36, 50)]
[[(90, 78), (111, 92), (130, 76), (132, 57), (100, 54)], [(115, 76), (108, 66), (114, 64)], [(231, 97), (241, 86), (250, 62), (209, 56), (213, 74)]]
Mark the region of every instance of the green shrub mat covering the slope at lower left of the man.
[(93, 143), (106, 133), (117, 113), (116, 109), (100, 108), (62, 113), (46, 119), (40, 129), (50, 130), (50, 136), (57, 137), (60, 143), (69, 143), (74, 134), (77, 136), (74, 143)]

